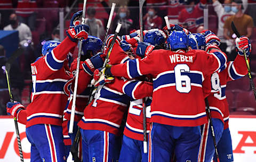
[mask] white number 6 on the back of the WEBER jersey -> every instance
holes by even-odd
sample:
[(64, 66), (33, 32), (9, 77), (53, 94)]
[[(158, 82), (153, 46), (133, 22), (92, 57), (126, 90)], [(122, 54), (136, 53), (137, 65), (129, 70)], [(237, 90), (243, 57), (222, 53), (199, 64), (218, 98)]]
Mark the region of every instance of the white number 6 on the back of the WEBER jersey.
[(181, 72), (189, 72), (189, 66), (178, 64), (174, 67), (176, 90), (181, 93), (189, 93), (191, 90), (191, 80), (188, 75), (181, 75)]

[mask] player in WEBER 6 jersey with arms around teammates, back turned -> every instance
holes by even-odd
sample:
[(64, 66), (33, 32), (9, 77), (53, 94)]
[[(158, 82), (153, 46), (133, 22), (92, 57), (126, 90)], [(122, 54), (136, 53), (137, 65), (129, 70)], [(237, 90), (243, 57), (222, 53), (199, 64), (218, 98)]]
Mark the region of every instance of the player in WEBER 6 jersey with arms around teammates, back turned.
[(202, 81), (224, 66), (227, 57), (221, 52), (187, 52), (188, 38), (183, 31), (173, 31), (167, 40), (173, 52), (154, 50), (144, 59), (106, 68), (105, 75), (153, 76), (148, 161), (170, 161), (174, 150), (178, 161), (197, 161), (199, 125), (207, 122)]

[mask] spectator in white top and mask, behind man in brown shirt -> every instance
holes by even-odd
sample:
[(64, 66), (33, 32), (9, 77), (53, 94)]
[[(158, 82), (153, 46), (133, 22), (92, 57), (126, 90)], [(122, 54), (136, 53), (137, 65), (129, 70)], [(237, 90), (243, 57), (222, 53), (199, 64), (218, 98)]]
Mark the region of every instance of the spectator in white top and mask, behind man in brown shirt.
[(220, 49), (226, 53), (227, 42), (223, 36), (223, 26), (226, 19), (234, 15), (235, 13), (231, 11), (231, 0), (225, 0), (224, 5), (222, 5), (218, 0), (213, 0), (213, 8), (218, 16), (218, 33), (217, 36), (220, 38)]

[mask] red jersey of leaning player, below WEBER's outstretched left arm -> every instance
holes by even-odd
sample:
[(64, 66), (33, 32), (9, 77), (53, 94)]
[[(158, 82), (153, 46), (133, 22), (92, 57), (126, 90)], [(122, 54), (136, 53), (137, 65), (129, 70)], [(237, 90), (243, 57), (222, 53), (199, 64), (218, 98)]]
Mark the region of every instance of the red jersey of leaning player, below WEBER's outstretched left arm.
[(114, 82), (98, 87), (92, 103), (84, 109), (84, 116), (78, 126), (84, 130), (107, 131), (118, 135), (131, 100), (129, 96), (139, 99), (152, 95), (152, 91), (152, 85), (142, 81), (115, 78)]

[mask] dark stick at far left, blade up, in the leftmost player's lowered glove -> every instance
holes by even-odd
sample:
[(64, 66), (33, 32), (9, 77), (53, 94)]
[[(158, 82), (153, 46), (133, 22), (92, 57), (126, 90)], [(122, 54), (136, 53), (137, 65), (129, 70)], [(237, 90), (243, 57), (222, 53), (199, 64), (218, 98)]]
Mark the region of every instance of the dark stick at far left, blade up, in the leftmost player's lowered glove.
[[(8, 84), (8, 90), (9, 90), (9, 95), (10, 95), (10, 101), (13, 103), (13, 96), (12, 96), (12, 85), (11, 85), (11, 80), (10, 80), (10, 70), (11, 70), (11, 64), (13, 61), (18, 58), (23, 52), (22, 48), (18, 48), (14, 52), (14, 54), (7, 60), (5, 64), (5, 68), (2, 67), (2, 69), (5, 69), (6, 73), (6, 79), (7, 79), (7, 84)], [(20, 161), (23, 162), (23, 153), (22, 153), (22, 148), (21, 148), (21, 140), (20, 140), (20, 132), (19, 132), (19, 127), (18, 127), (18, 122), (17, 118), (14, 117), (14, 124), (15, 124), (15, 130), (16, 130), (16, 135), (17, 135), (17, 141), (18, 141), (18, 148), (19, 148), (19, 153), (20, 153)]]

